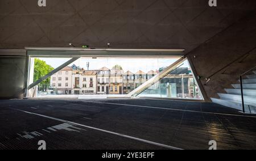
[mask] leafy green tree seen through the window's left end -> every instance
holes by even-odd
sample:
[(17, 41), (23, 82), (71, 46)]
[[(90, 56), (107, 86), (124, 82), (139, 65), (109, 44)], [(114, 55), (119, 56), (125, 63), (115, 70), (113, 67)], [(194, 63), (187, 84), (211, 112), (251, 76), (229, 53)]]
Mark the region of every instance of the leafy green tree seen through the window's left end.
[[(54, 68), (51, 65), (48, 65), (45, 61), (35, 58), (35, 67), (34, 67), (34, 82), (44, 75), (51, 72)], [(46, 90), (49, 87), (51, 78), (47, 78), (38, 85), (39, 90)]]

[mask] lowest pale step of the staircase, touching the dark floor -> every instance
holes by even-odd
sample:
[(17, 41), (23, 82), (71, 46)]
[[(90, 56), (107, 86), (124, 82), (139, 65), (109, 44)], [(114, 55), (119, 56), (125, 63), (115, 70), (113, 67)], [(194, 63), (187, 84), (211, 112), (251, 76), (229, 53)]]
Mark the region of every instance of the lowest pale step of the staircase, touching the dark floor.
[[(243, 110), (242, 103), (240, 101), (230, 101), (230, 100), (222, 100), (222, 99), (216, 99), (216, 98), (210, 98), (212, 99), (213, 103), (221, 104), (226, 107), (238, 109), (240, 111)], [(250, 106), (251, 107), (251, 106)], [(250, 112), (249, 105), (245, 104), (245, 112)]]

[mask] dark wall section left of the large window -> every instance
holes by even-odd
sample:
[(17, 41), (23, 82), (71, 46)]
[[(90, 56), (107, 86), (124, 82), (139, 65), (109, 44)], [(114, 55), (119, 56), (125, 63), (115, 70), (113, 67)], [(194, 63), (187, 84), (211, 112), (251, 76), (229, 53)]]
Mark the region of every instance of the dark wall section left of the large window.
[(0, 50), (0, 99), (23, 98), (26, 51)]

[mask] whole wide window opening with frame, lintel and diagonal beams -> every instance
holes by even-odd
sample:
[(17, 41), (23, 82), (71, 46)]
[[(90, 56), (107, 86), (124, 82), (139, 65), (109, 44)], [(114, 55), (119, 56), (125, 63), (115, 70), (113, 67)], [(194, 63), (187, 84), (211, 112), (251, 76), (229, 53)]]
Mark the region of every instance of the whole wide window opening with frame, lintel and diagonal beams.
[(27, 54), (27, 98), (203, 99), (183, 50), (28, 48)]

